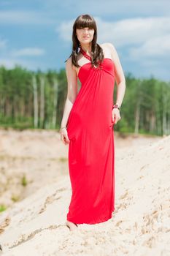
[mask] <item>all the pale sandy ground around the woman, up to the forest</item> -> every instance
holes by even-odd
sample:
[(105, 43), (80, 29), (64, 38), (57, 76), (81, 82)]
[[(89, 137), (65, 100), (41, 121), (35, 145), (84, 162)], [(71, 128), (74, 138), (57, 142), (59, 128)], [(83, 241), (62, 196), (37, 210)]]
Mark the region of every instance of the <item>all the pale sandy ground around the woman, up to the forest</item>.
[(58, 132), (1, 130), (0, 136), (0, 204), (9, 207), (0, 214), (2, 255), (170, 255), (170, 136), (115, 135), (115, 212), (74, 232), (65, 225), (72, 190), (68, 146)]

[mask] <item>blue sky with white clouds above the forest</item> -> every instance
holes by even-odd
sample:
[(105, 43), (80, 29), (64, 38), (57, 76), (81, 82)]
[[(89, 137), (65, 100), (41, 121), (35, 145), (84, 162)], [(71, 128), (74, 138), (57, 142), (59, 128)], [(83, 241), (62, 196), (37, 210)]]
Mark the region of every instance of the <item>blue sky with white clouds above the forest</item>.
[(72, 25), (90, 14), (98, 43), (115, 45), (125, 73), (170, 80), (170, 1), (0, 1), (0, 65), (59, 70), (72, 50)]

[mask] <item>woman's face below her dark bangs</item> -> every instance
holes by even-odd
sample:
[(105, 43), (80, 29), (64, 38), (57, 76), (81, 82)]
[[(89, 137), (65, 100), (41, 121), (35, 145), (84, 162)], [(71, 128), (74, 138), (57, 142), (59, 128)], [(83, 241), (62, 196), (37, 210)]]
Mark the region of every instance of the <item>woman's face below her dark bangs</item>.
[(86, 44), (93, 40), (94, 29), (88, 27), (76, 29), (77, 39), (80, 43)]

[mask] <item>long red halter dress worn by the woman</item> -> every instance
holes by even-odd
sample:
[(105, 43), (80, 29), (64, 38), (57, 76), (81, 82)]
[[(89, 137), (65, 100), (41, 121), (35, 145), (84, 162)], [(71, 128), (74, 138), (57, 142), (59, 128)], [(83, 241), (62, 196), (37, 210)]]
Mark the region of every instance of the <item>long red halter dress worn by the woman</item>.
[(96, 224), (115, 210), (115, 146), (112, 121), (115, 64), (80, 67), (81, 88), (69, 114), (69, 177), (72, 199), (67, 220)]

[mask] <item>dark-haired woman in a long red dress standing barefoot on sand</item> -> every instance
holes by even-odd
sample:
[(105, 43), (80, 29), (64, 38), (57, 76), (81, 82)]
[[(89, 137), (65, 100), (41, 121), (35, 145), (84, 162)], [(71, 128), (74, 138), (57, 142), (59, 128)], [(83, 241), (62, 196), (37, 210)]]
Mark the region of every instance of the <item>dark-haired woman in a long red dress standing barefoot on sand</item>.
[[(66, 226), (96, 224), (115, 210), (113, 125), (120, 120), (125, 76), (112, 43), (98, 45), (96, 21), (80, 15), (74, 22), (72, 54), (66, 60), (68, 93), (61, 140), (69, 144), (72, 200)], [(77, 78), (81, 82), (77, 93)], [(117, 100), (113, 102), (115, 80)]]

